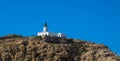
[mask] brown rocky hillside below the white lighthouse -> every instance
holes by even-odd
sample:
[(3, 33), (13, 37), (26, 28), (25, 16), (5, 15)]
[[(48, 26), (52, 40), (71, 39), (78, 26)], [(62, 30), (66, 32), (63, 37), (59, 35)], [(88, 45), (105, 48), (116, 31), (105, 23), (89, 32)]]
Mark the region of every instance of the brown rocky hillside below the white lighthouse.
[(0, 61), (120, 61), (120, 57), (101, 44), (73, 39), (24, 37), (0, 39)]

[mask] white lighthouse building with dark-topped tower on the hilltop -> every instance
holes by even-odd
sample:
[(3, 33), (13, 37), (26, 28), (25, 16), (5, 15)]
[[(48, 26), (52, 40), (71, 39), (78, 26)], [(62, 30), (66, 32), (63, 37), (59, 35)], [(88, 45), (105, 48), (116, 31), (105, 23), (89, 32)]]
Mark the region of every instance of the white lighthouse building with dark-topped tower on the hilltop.
[(43, 26), (43, 31), (38, 32), (37, 36), (51, 36), (51, 37), (65, 37), (65, 34), (62, 33), (53, 33), (53, 32), (48, 32), (48, 26), (47, 23), (44, 24)]

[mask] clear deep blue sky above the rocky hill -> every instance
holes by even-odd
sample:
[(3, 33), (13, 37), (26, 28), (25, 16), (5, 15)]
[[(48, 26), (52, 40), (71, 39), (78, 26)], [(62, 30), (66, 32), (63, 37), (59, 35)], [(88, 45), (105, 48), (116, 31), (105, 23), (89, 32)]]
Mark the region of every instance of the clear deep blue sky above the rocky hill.
[(0, 0), (0, 36), (49, 31), (108, 46), (120, 54), (120, 0)]

